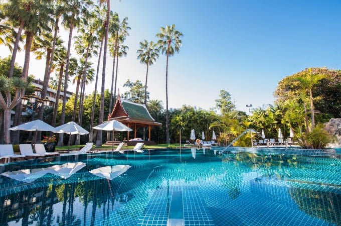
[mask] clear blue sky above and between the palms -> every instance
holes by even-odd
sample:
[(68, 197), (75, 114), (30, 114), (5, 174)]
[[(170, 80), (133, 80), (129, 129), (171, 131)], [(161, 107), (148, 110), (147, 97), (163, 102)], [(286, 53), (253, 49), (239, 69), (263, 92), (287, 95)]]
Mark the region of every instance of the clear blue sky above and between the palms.
[[(209, 109), (224, 89), (238, 109), (248, 112), (246, 104), (272, 104), (285, 76), (308, 67), (340, 68), (341, 1), (111, 0), (111, 9), (128, 17), (131, 27), (128, 56), (118, 66), (121, 93), (128, 78), (144, 84), (146, 67), (136, 59), (139, 41), (156, 41), (159, 28), (171, 24), (184, 34), (180, 53), (169, 58), (169, 107)], [(67, 42), (67, 33), (61, 35)], [(31, 59), (30, 73), (42, 78), (43, 62)], [(106, 88), (112, 71), (108, 60)], [(150, 98), (164, 105), (165, 63), (160, 56), (148, 74)]]

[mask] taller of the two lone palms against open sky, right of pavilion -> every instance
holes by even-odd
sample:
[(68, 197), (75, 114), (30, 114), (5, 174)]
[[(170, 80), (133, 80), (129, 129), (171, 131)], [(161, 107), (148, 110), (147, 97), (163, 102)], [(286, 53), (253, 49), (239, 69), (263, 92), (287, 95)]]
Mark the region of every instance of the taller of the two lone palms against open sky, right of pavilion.
[(169, 144), (169, 128), (168, 128), (168, 57), (173, 56), (175, 52), (180, 51), (183, 33), (175, 30), (175, 25), (160, 28), (160, 33), (156, 34), (159, 38), (157, 44), (161, 48), (162, 54), (166, 54), (166, 143)]

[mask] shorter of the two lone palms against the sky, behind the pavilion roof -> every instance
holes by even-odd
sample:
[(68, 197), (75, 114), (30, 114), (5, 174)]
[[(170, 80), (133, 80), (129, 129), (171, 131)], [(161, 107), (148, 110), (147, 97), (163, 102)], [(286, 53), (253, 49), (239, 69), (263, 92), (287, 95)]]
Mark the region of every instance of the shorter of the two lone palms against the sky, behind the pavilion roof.
[(147, 80), (148, 80), (148, 67), (149, 65), (153, 65), (158, 58), (159, 49), (157, 48), (157, 44), (153, 43), (153, 41), (148, 42), (144, 40), (140, 42), (140, 49), (137, 50), (137, 59), (140, 59), (141, 64), (147, 65), (147, 72), (145, 74), (145, 90), (144, 90), (144, 104), (146, 104), (147, 97)]

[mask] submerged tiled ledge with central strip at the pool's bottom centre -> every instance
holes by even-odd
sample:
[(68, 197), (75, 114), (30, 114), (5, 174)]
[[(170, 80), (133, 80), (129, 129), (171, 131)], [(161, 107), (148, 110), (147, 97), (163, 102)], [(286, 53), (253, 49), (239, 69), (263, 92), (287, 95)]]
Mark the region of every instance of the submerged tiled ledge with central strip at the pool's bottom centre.
[(161, 186), (153, 193), (137, 225), (156, 224), (214, 225), (214, 222), (198, 186)]

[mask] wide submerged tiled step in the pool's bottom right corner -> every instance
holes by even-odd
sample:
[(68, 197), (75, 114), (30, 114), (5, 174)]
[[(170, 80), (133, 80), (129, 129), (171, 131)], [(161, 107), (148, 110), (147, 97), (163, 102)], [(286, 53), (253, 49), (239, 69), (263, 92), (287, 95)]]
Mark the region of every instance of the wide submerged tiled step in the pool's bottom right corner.
[(251, 192), (272, 202), (303, 211), (307, 215), (341, 224), (341, 188), (321, 183), (299, 183), (257, 178), (250, 181)]

